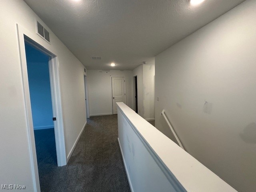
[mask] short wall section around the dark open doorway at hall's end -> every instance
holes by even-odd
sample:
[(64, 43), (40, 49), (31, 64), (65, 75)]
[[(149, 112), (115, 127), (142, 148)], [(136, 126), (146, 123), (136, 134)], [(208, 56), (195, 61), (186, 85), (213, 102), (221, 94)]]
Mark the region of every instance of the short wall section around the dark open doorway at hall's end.
[[(137, 76), (137, 92), (138, 92), (138, 114), (144, 118), (143, 107), (143, 65), (136, 67), (132, 70), (133, 77)], [(133, 82), (134, 89), (134, 82)], [(134, 95), (133, 95), (134, 100)], [(133, 107), (134, 108), (134, 107)]]

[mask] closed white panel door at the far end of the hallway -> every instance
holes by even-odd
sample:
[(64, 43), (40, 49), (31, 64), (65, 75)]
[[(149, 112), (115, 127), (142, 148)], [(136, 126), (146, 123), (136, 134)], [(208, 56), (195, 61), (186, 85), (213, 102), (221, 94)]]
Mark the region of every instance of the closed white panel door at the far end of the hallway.
[(117, 114), (116, 102), (126, 104), (126, 84), (124, 77), (112, 77), (112, 104), (113, 114)]

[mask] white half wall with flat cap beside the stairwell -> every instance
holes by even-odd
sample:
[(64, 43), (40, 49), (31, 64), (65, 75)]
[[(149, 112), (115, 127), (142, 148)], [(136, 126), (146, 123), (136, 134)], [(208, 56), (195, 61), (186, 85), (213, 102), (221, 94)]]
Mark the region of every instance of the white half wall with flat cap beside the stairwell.
[(118, 141), (131, 191), (236, 191), (122, 102)]

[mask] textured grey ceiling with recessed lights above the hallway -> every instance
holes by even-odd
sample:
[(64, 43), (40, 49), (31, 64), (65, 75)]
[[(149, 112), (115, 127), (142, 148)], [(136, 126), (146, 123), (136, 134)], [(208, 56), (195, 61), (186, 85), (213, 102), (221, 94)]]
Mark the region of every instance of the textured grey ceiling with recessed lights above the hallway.
[(244, 0), (24, 1), (88, 69), (131, 70)]

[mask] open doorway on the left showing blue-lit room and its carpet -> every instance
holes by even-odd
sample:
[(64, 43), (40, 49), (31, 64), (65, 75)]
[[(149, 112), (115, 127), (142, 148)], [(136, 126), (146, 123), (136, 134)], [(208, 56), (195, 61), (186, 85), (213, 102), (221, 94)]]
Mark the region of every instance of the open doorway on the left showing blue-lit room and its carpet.
[(25, 51), (38, 173), (42, 185), (41, 178), (44, 178), (47, 173), (46, 167), (49, 164), (57, 166), (49, 70), (50, 57), (26, 41)]

